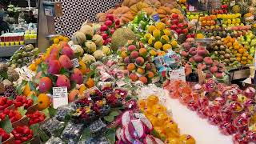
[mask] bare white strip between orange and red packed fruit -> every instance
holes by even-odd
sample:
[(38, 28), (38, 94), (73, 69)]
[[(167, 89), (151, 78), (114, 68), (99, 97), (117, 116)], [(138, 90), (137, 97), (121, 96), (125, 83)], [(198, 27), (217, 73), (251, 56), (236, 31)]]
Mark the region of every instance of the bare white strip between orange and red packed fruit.
[(174, 121), (178, 123), (181, 134), (191, 134), (197, 144), (232, 144), (232, 137), (220, 133), (218, 126), (210, 125), (206, 119), (199, 118), (182, 106), (177, 99), (166, 98), (166, 106), (172, 110)]

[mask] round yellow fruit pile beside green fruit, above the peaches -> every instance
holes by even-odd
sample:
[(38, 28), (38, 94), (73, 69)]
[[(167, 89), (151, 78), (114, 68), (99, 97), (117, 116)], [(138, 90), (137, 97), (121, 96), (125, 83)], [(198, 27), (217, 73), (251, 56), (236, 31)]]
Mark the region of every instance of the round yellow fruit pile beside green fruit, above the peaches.
[(157, 22), (155, 26), (148, 26), (143, 39), (154, 48), (150, 52), (151, 56), (166, 54), (168, 50), (175, 49), (178, 46), (178, 43), (172, 40), (172, 33), (162, 22)]

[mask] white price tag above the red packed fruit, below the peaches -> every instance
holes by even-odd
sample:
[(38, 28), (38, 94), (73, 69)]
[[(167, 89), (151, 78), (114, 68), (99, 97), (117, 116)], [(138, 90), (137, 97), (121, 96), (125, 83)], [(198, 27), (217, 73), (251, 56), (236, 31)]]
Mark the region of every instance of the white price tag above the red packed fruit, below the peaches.
[(182, 80), (186, 82), (185, 68), (181, 67), (178, 70), (170, 70), (169, 71), (170, 81), (173, 82), (175, 80)]

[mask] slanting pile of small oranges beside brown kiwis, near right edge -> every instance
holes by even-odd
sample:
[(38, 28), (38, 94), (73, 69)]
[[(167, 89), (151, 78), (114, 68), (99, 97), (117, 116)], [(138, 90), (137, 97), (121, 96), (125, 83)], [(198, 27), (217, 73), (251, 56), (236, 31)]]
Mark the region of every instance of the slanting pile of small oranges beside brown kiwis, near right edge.
[(236, 56), (236, 60), (242, 65), (251, 64), (254, 59), (248, 52), (248, 50), (243, 47), (235, 38), (227, 36), (223, 38), (223, 43), (231, 50), (231, 52)]

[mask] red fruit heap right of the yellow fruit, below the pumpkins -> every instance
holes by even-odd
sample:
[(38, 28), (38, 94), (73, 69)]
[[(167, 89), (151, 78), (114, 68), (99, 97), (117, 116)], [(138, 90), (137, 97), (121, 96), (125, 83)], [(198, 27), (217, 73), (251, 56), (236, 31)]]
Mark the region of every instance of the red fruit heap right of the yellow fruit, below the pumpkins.
[(170, 22), (167, 24), (170, 25), (170, 30), (174, 30), (178, 34), (189, 34), (188, 24), (181, 17), (183, 16), (179, 14), (171, 14)]

